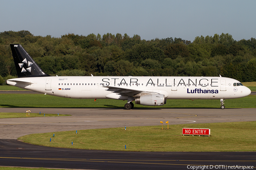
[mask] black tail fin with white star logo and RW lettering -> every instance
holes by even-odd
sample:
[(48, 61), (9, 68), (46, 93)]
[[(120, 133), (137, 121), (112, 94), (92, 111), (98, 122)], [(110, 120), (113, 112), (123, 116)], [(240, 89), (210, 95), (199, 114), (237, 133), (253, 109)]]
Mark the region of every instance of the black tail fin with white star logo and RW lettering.
[(13, 59), (20, 77), (45, 77), (49, 76), (36, 64), (26, 50), (20, 44), (10, 44)]

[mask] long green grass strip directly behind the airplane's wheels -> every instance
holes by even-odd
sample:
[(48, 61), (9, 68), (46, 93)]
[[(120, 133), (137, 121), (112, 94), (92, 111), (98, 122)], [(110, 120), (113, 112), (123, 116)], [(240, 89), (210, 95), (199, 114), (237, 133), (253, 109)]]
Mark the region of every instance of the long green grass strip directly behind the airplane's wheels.
[[(44, 94), (0, 94), (0, 107), (20, 108), (123, 108), (127, 101), (114, 99), (70, 99)], [(224, 101), (226, 108), (256, 108), (256, 95)], [(169, 99), (163, 106), (136, 105), (136, 108), (220, 108), (220, 100)]]

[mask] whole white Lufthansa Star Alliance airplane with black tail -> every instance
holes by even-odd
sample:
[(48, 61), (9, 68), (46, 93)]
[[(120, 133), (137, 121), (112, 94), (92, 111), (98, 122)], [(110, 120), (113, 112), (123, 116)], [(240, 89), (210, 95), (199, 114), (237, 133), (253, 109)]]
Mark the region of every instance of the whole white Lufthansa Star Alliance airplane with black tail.
[(18, 78), (7, 84), (26, 90), (75, 99), (127, 100), (125, 109), (135, 104), (160, 106), (166, 99), (225, 99), (251, 94), (238, 80), (226, 77), (191, 76), (50, 76), (20, 44), (10, 44)]

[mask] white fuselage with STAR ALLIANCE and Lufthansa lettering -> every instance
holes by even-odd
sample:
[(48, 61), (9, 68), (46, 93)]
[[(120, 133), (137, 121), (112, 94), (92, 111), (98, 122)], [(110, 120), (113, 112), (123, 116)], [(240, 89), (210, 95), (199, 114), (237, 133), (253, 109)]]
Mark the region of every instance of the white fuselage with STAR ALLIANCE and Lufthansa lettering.
[[(26, 82), (26, 83), (23, 83)], [(251, 90), (238, 80), (225, 77), (49, 76), (7, 80), (7, 84), (59, 97), (121, 99), (128, 96), (104, 86), (164, 94), (165, 99), (234, 99)]]

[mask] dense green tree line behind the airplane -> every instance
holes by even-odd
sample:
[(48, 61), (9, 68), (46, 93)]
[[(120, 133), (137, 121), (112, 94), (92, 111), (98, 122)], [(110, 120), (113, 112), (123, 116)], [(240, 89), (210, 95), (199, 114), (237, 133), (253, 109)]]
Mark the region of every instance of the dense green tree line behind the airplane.
[[(48, 75), (58, 76), (223, 76), (256, 81), (256, 39), (232, 35), (141, 40), (127, 34), (34, 36), (0, 33), (0, 79), (17, 75), (9, 44), (21, 44)], [(0, 80), (1, 83), (1, 80)]]

